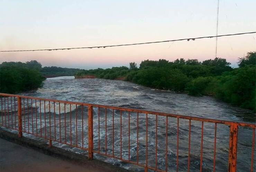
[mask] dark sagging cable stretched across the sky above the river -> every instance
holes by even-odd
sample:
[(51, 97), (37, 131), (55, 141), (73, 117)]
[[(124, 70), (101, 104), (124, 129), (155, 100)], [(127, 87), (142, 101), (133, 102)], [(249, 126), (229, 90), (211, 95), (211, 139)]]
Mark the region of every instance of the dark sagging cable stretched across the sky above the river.
[(222, 37), (222, 36), (233, 36), (233, 35), (244, 35), (244, 34), (252, 34), (256, 32), (244, 32), (244, 33), (235, 33), (235, 34), (226, 34), (226, 35), (216, 35), (216, 36), (203, 36), (203, 37), (192, 37), (192, 38), (183, 38), (176, 40), (166, 40), (166, 41), (155, 41), (155, 42), (143, 42), (143, 43), (132, 43), (132, 44), (119, 44), (119, 45), (104, 45), (104, 46), (88, 46), (88, 47), (70, 47), (70, 48), (62, 48), (62, 49), (37, 49), (37, 50), (4, 50), (0, 52), (18, 52), (18, 51), (52, 51), (52, 50), (72, 50), (72, 49), (94, 49), (94, 48), (106, 48), (106, 47), (114, 47), (114, 46), (130, 46), (130, 45), (141, 45), (141, 44), (154, 44), (154, 43), (162, 43), (162, 42), (174, 42), (174, 41), (190, 41), (196, 39), (203, 38), (212, 38), (212, 37)]

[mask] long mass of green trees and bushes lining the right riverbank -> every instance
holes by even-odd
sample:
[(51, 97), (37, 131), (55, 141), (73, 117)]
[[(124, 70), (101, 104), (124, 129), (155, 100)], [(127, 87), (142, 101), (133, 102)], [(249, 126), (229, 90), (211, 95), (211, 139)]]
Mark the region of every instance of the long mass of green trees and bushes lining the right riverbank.
[(145, 60), (139, 68), (132, 62), (130, 68), (81, 70), (76, 75), (94, 75), (104, 79), (125, 79), (157, 89), (187, 92), (189, 95), (214, 96), (230, 104), (255, 111), (256, 52), (238, 58), (239, 68), (231, 68), (224, 58), (199, 62), (183, 58), (169, 62)]

